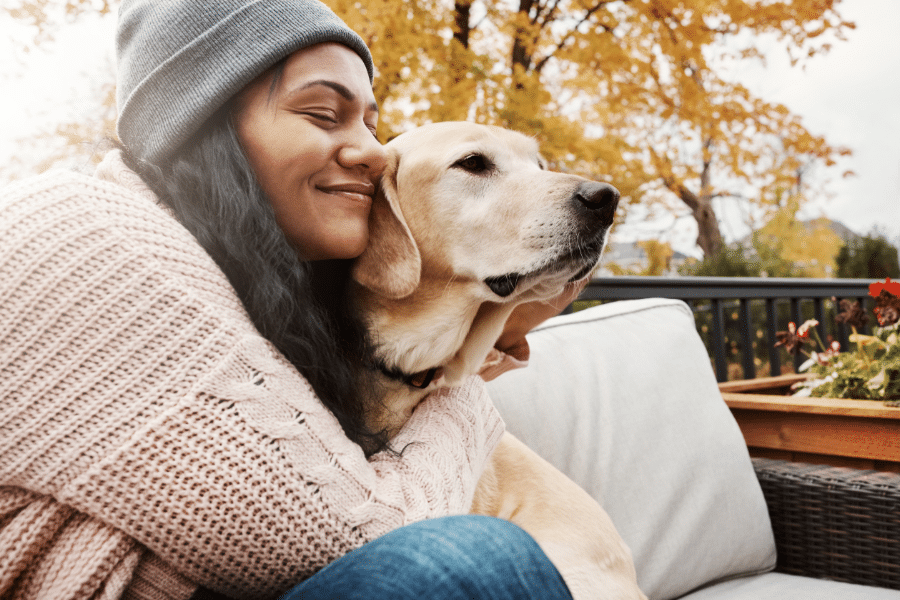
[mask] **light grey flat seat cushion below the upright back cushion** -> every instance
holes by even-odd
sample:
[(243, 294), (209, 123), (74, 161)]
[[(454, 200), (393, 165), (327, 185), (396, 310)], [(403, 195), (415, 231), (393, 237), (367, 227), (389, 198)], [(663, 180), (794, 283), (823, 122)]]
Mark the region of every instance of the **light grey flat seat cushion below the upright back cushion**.
[(682, 600), (900, 600), (900, 591), (766, 573), (719, 583)]

